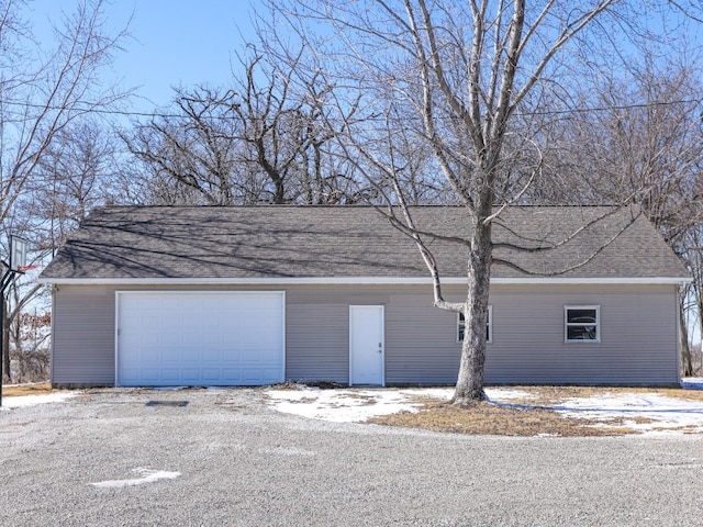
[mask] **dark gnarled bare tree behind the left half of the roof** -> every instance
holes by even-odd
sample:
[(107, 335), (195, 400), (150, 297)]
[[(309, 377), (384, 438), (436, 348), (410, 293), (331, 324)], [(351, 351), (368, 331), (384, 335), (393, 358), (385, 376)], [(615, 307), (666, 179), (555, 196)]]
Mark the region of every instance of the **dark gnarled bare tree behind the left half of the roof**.
[(330, 87), (313, 77), (292, 90), (295, 67), (250, 49), (234, 88), (177, 91), (167, 115), (123, 134), (149, 175), (158, 203), (348, 202), (350, 165), (331, 152), (338, 132), (325, 116)]

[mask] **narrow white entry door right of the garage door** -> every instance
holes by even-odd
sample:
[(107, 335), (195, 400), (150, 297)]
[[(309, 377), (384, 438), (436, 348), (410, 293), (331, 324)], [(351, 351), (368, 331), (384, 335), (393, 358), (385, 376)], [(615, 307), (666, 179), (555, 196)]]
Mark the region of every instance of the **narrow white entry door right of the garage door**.
[(384, 384), (383, 306), (349, 306), (349, 384)]

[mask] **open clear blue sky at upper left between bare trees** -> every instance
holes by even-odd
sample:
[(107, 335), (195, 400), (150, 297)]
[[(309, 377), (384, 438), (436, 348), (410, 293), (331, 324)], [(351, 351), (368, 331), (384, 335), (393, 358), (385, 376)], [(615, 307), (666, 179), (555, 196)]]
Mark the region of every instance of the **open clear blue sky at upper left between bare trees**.
[[(114, 0), (105, 5), (114, 31), (130, 24), (125, 52), (116, 55), (111, 76), (123, 88), (141, 86), (135, 111), (150, 111), (172, 97), (171, 87), (207, 82), (224, 86), (237, 66), (235, 53), (253, 38), (250, 19), (256, 0)], [(71, 12), (72, 0), (34, 0), (34, 19), (41, 40), (48, 38), (46, 20), (60, 10)], [(110, 77), (110, 75), (105, 75)]]

